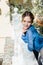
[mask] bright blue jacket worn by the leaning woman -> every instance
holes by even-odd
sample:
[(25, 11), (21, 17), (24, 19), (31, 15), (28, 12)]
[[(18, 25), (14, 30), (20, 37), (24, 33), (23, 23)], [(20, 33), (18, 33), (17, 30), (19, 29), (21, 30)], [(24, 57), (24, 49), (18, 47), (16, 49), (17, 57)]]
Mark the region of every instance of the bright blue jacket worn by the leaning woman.
[(28, 44), (28, 49), (30, 51), (36, 50), (39, 52), (43, 47), (43, 37), (39, 35), (33, 25), (27, 29), (21, 38)]

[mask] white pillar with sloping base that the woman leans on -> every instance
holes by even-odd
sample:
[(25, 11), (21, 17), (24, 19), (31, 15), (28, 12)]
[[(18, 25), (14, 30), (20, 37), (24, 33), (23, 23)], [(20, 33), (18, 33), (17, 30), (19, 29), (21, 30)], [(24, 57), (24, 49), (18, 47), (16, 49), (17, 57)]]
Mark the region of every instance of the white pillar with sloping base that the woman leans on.
[(12, 57), (12, 65), (38, 65), (33, 52), (27, 49), (27, 44), (21, 39), (21, 15), (14, 14), (14, 56)]

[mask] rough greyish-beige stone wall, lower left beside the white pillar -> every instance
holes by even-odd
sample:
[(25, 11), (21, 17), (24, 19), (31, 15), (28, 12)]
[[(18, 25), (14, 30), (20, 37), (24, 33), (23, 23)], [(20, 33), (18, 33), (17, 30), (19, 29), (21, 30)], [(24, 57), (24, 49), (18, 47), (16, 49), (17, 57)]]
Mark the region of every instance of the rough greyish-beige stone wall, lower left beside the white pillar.
[(12, 65), (13, 54), (14, 54), (14, 42), (10, 37), (6, 37), (2, 65)]

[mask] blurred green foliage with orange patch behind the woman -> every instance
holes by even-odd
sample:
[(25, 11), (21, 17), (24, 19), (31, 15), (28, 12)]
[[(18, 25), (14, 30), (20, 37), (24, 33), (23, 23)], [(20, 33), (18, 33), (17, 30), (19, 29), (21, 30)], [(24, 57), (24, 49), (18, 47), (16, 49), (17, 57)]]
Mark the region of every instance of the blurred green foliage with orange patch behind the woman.
[(18, 8), (19, 14), (22, 14), (25, 10), (31, 11), (35, 17), (33, 25), (43, 35), (43, 0), (9, 0), (9, 4), (10, 20), (12, 20), (15, 7)]

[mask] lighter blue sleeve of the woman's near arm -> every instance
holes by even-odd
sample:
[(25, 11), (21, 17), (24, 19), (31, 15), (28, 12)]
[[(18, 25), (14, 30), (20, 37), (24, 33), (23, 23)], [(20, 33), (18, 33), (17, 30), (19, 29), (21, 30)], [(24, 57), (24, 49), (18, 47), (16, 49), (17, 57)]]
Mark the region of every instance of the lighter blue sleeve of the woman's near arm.
[(33, 40), (34, 40), (33, 33), (32, 33), (31, 30), (29, 30), (29, 31), (28, 31), (28, 49), (29, 49), (30, 51), (33, 51), (33, 50), (34, 50)]

